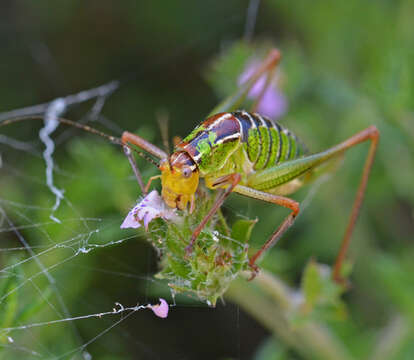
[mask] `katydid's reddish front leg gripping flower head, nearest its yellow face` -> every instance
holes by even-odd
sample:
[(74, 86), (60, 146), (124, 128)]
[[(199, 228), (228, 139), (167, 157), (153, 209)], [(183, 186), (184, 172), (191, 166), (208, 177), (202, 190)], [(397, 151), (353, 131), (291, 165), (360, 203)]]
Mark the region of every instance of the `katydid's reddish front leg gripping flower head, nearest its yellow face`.
[(190, 244), (188, 244), (188, 246), (185, 248), (185, 252), (187, 256), (190, 255), (191, 252), (193, 251), (194, 243), (197, 240), (198, 235), (200, 235), (201, 230), (203, 230), (204, 226), (206, 226), (206, 224), (210, 221), (212, 216), (220, 208), (224, 200), (226, 200), (226, 198), (230, 195), (233, 189), (240, 182), (240, 180), (241, 180), (240, 174), (230, 174), (230, 175), (223, 176), (222, 178), (218, 179), (214, 183), (214, 186), (223, 186), (227, 184), (229, 186), (217, 197), (216, 201), (214, 202), (208, 214), (201, 221), (200, 225), (198, 225), (196, 229), (194, 230), (193, 235), (191, 235)]

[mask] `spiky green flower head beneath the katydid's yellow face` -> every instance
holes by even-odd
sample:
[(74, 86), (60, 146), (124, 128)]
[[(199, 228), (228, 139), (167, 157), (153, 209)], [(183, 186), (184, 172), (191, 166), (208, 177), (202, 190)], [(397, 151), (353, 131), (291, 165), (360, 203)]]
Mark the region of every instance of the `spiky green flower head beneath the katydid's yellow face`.
[(230, 283), (244, 270), (248, 270), (247, 242), (255, 221), (238, 220), (231, 236), (223, 233), (219, 216), (213, 218), (200, 233), (190, 255), (185, 248), (194, 228), (207, 214), (214, 196), (204, 194), (198, 198), (193, 214), (180, 212), (176, 222), (156, 220), (150, 223), (148, 236), (161, 254), (161, 271), (156, 275), (168, 280), (176, 293), (190, 293), (207, 304), (215, 306)]

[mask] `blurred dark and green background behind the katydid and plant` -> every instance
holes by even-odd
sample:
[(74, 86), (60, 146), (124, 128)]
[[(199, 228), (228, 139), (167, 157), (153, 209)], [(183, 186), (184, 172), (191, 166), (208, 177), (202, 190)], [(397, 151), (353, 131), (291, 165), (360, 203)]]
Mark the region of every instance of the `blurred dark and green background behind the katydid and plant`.
[[(2, 1), (0, 112), (120, 80), (100, 111), (90, 101), (65, 117), (114, 135), (135, 131), (161, 145), (157, 113), (168, 114), (170, 136), (185, 136), (222, 99), (229, 81), (237, 87), (234, 74), (217, 65), (235, 46), (279, 48), (280, 88), (288, 99), (279, 121), (311, 150), (371, 124), (381, 132), (350, 251), (347, 317), (318, 321), (355, 359), (412, 359), (414, 2), (263, 0), (249, 44), (248, 6), (236, 0)], [(55, 197), (46, 186), (40, 127), (28, 121), (0, 129), (1, 328), (111, 311), (115, 302), (133, 306), (162, 296), (171, 303), (167, 285), (152, 277), (157, 256), (142, 233), (119, 229), (139, 195), (120, 149), (73, 129), (53, 134), (55, 184), (65, 190), (56, 224), (49, 219)], [(314, 193), (263, 268), (298, 287), (311, 258), (334, 262), (367, 150), (366, 144), (352, 149), (323, 186), (293, 196), (303, 201)], [(145, 178), (156, 174), (139, 164)], [(259, 219), (253, 248), (286, 215), (237, 195), (224, 213), (230, 220)], [(22, 249), (13, 228), (38, 256)], [(0, 358), (306, 358), (230, 300), (214, 309), (185, 296), (176, 301), (166, 320), (147, 310), (120, 323), (114, 315), (0, 329)]]

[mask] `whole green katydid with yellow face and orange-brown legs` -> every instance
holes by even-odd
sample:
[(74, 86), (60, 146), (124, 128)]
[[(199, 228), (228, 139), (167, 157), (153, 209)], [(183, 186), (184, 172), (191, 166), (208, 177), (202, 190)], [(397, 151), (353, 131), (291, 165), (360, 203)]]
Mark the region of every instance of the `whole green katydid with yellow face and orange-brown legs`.
[[(148, 191), (152, 180), (161, 178), (162, 197), (169, 207), (180, 210), (188, 208), (191, 213), (197, 206), (196, 190), (200, 178), (204, 178), (208, 188), (221, 189), (221, 194), (217, 196), (205, 218), (194, 229), (186, 248), (187, 256), (191, 256), (198, 235), (232, 192), (290, 209), (289, 215), (270, 238), (250, 257), (252, 277), (258, 271), (256, 262), (293, 225), (300, 212), (300, 204), (287, 195), (312, 181), (316, 177), (313, 176), (314, 172), (319, 167), (340, 157), (355, 145), (369, 140), (370, 147), (361, 182), (332, 272), (333, 279), (340, 282), (341, 267), (364, 197), (379, 132), (375, 126), (370, 126), (338, 145), (310, 154), (292, 132), (254, 112), (260, 98), (256, 100), (251, 111), (237, 111), (252, 86), (262, 76), (268, 78), (272, 76), (280, 58), (280, 52), (276, 49), (272, 50), (250, 79), (232, 96), (219, 104), (205, 121), (175, 146), (174, 152), (170, 155), (130, 132), (124, 132), (121, 138), (117, 138), (70, 120), (59, 119), (59, 121), (94, 132), (123, 146), (142, 191), (144, 193)], [(266, 82), (268, 83), (269, 81)], [(264, 91), (261, 94), (263, 93)], [(6, 120), (0, 123), (0, 126), (25, 119)], [(134, 146), (159, 159), (155, 164), (160, 169), (161, 175), (150, 178), (145, 187), (131, 153)], [(148, 160), (151, 159), (143, 153), (139, 154)]]

